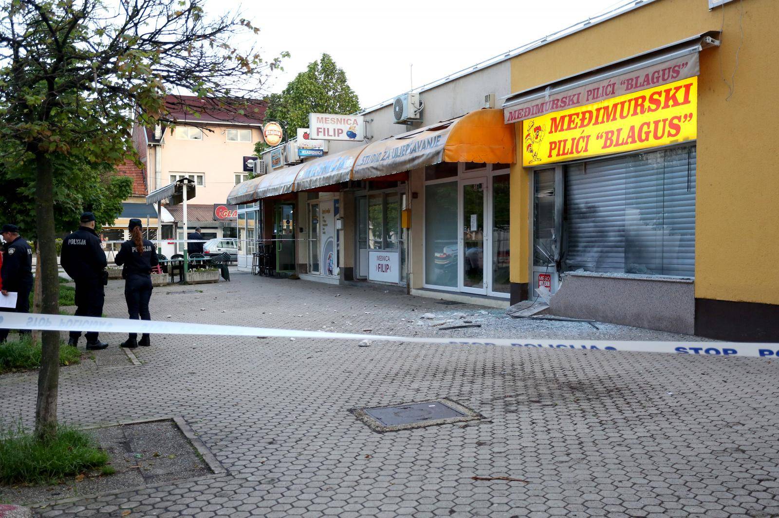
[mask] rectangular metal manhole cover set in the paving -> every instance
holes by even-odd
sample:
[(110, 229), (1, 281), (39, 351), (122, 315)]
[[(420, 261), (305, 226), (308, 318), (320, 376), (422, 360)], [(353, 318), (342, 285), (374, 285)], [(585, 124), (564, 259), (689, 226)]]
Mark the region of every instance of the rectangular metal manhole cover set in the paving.
[(358, 408), (352, 411), (376, 432), (473, 421), (481, 415), (450, 400), (400, 403), (389, 407)]

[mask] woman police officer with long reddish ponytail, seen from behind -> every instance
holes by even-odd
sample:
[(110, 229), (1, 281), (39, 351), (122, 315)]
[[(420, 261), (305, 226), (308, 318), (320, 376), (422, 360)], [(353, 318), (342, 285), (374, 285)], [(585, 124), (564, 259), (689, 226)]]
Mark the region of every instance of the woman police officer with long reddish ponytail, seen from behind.
[[(141, 220), (132, 218), (129, 224), (130, 239), (122, 243), (122, 248), (116, 254), (115, 262), (124, 266), (122, 277), (125, 278), (125, 301), (130, 319), (151, 320), (149, 300), (151, 298), (151, 270), (157, 262), (157, 248), (148, 239), (143, 238)], [(143, 333), (138, 341), (138, 333), (129, 333), (122, 347), (134, 348), (151, 345), (149, 333)]]

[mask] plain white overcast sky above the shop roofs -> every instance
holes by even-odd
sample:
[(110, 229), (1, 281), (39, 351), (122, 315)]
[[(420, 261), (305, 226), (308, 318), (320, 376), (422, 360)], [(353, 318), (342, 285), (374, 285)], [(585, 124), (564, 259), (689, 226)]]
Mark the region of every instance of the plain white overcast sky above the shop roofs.
[(326, 52), (344, 69), (361, 107), (597, 15), (626, 0), (209, 0), (240, 9), (259, 26), (263, 55), (289, 51), (284, 72), (266, 86), (284, 89)]

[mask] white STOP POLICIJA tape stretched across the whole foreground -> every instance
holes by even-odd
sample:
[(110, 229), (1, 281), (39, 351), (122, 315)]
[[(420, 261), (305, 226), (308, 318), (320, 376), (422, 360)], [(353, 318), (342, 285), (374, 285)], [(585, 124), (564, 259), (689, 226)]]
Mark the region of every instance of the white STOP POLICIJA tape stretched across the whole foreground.
[(563, 349), (575, 351), (628, 351), (640, 353), (698, 354), (703, 356), (779, 357), (779, 344), (741, 342), (570, 340), (548, 338), (453, 338), (395, 337), (359, 333), (331, 333), (273, 327), (223, 326), (192, 322), (105, 319), (89, 316), (38, 315), (0, 312), (0, 328), (41, 331), (97, 331), (99, 333), (153, 333), (224, 337), (315, 338), (319, 340), (368, 340), (452, 346), (497, 346)]

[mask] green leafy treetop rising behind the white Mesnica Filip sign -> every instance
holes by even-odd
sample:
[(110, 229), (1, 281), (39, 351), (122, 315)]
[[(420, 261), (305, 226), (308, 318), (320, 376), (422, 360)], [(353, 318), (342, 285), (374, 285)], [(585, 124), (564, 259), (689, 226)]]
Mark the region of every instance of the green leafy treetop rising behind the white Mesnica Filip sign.
[[(268, 98), (266, 118), (283, 121), (287, 133), (294, 137), (298, 128), (308, 128), (308, 114), (333, 113), (353, 114), (359, 111), (360, 101), (351, 89), (346, 73), (340, 69), (330, 55), (323, 54), (318, 62), (308, 64), (281, 93)], [(265, 143), (257, 143), (255, 152), (262, 153)]]

